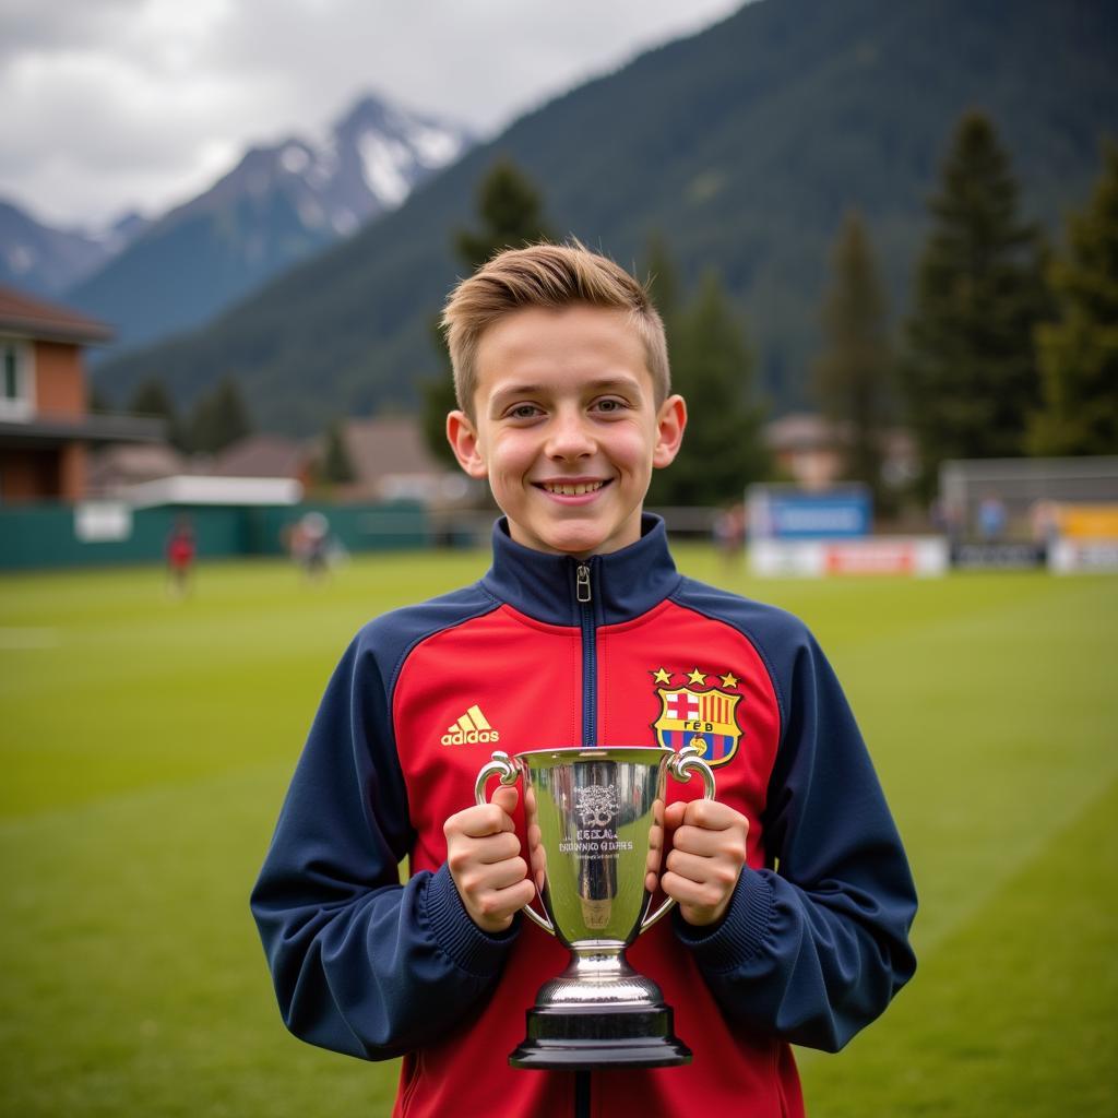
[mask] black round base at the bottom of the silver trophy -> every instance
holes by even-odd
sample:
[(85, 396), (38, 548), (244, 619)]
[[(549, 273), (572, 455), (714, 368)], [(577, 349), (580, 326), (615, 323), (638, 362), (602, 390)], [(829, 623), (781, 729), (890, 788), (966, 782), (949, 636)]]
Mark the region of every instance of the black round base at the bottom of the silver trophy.
[(691, 1049), (672, 1031), (666, 1005), (632, 1011), (570, 1006), (528, 1011), (528, 1036), (509, 1057), (513, 1068), (675, 1068), (691, 1062)]

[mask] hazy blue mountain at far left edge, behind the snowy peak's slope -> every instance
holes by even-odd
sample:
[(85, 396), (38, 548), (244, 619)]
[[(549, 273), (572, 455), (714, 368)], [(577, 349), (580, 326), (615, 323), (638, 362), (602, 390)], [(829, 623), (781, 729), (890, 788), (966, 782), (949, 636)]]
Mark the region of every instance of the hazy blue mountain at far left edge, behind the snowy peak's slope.
[(127, 214), (104, 229), (58, 229), (0, 200), (0, 284), (57, 296), (139, 236), (146, 220)]

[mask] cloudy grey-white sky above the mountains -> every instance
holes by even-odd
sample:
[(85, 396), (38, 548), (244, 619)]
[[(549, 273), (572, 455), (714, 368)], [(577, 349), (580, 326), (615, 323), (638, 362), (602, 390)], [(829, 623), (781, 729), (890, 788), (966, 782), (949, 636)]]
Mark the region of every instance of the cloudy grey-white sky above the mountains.
[(740, 2), (0, 0), (0, 199), (162, 210), (366, 91), (492, 133)]

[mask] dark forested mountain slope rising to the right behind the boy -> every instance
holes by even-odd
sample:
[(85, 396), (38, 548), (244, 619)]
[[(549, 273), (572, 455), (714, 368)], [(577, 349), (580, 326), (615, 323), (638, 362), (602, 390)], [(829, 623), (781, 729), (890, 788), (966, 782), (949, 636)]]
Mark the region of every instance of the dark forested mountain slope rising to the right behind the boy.
[(563, 234), (631, 264), (660, 230), (685, 283), (717, 267), (788, 409), (844, 211), (864, 215), (899, 313), (939, 163), (979, 106), (1024, 211), (1058, 236), (1098, 174), (1100, 136), (1118, 134), (1116, 57), (1118, 6), (1095, 0), (761, 0), (522, 117), (395, 214), (100, 383), (121, 398), (159, 375), (187, 402), (231, 375), (256, 421), (287, 432), (414, 407), (439, 368), (430, 322), (461, 271), (453, 230), (474, 222), (479, 180), (505, 155)]

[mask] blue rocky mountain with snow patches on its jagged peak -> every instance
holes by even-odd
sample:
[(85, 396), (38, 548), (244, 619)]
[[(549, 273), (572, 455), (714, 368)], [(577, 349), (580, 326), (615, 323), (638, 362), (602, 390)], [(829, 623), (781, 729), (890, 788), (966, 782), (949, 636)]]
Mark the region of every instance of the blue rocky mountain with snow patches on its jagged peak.
[(68, 302), (113, 323), (121, 347), (189, 329), (395, 208), (471, 142), (458, 124), (367, 96), (321, 138), (253, 148)]

